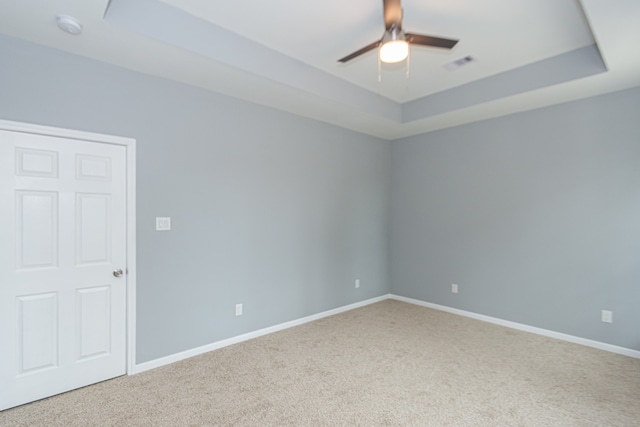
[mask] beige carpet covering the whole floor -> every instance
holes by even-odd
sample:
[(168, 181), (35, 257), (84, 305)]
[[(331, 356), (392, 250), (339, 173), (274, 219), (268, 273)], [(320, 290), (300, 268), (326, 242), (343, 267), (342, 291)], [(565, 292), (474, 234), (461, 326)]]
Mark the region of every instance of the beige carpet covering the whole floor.
[(388, 300), (0, 412), (2, 426), (640, 426), (640, 360)]

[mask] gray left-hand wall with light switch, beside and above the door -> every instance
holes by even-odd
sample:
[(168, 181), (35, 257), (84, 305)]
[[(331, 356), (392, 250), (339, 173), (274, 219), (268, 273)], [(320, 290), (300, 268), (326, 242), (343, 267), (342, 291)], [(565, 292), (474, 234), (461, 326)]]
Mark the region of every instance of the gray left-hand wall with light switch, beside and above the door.
[(5, 36), (0, 58), (0, 119), (137, 140), (139, 363), (389, 292), (388, 142)]

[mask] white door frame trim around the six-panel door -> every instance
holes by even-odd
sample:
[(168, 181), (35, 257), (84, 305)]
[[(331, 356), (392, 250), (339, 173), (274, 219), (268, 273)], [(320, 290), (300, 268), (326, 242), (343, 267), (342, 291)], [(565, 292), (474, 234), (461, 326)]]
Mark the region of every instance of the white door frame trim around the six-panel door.
[(101, 144), (121, 145), (126, 150), (127, 171), (127, 374), (136, 368), (136, 140), (50, 126), (0, 120), (0, 130), (54, 136)]

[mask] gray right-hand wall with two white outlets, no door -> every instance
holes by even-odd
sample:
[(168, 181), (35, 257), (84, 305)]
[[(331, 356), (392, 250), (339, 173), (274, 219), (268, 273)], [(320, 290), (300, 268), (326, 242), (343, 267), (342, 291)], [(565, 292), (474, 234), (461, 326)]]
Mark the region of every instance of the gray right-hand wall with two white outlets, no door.
[(640, 350), (640, 88), (391, 158), (393, 293)]

